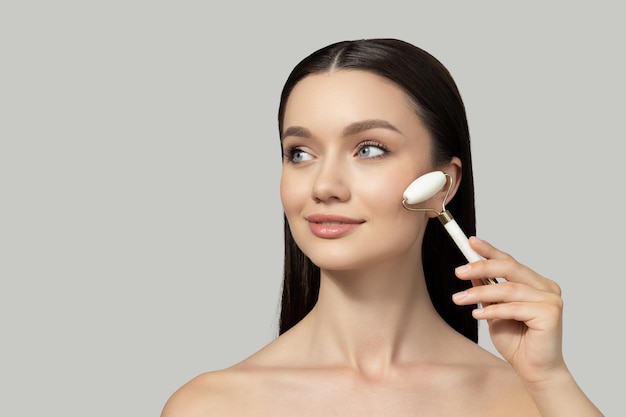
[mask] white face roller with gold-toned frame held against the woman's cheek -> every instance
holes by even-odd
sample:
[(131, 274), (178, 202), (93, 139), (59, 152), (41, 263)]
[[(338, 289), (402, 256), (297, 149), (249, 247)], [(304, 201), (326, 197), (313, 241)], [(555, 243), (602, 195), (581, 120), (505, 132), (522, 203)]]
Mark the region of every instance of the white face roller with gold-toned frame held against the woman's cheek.
[[(448, 183), (448, 190), (446, 191), (446, 196), (443, 199), (441, 211), (437, 211), (432, 208), (409, 207), (409, 204), (421, 203), (437, 194), (439, 191), (441, 191), (446, 182)], [(459, 247), (468, 262), (485, 259), (471, 248), (467, 236), (465, 235), (465, 233), (463, 233), (461, 227), (456, 222), (456, 220), (454, 220), (452, 214), (448, 210), (446, 210), (446, 200), (448, 199), (448, 195), (450, 194), (450, 190), (452, 189), (452, 183), (452, 177), (449, 174), (441, 171), (433, 171), (424, 174), (421, 177), (417, 178), (415, 181), (413, 181), (406, 188), (406, 190), (404, 190), (404, 193), (402, 194), (402, 205), (405, 209), (410, 211), (435, 212), (437, 214), (437, 218), (448, 231), (448, 234), (452, 237), (452, 240), (454, 240), (454, 243), (456, 243), (456, 245)], [(483, 278), (481, 281), (483, 282), (483, 284), (498, 283), (495, 278)]]

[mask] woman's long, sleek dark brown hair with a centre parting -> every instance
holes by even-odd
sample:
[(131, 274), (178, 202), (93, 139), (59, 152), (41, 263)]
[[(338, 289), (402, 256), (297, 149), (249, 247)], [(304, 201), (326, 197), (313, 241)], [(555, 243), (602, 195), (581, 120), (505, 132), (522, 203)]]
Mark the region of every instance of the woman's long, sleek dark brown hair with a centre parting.
[[(397, 39), (343, 41), (321, 48), (292, 70), (283, 87), (278, 110), (283, 131), (285, 105), (294, 86), (308, 75), (339, 69), (369, 71), (393, 81), (413, 101), (415, 112), (432, 137), (435, 166), (454, 156), (462, 162), (462, 180), (446, 205), (468, 234), (476, 233), (474, 182), (465, 106), (448, 70), (428, 52)], [(285, 218), (285, 263), (279, 334), (298, 323), (317, 302), (320, 270), (296, 245)], [(471, 286), (454, 275), (465, 258), (437, 219), (430, 219), (422, 245), (428, 293), (441, 317), (459, 333), (478, 341), (475, 306), (459, 307), (452, 294)]]

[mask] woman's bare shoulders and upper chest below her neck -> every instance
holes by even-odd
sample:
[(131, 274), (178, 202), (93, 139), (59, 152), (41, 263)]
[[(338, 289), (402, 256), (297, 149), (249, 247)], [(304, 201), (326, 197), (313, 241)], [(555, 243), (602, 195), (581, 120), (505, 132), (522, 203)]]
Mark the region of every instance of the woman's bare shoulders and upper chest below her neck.
[(354, 358), (329, 360), (311, 348), (316, 320), (312, 313), (243, 362), (190, 381), (163, 417), (539, 416), (507, 363), (443, 322), (435, 320), (430, 334), (437, 336), (411, 358), (398, 353), (361, 368)]

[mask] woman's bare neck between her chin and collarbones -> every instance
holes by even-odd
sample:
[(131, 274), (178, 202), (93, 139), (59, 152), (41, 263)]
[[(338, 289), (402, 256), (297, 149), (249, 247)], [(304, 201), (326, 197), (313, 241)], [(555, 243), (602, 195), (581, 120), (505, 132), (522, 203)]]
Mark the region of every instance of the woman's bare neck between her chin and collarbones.
[(318, 302), (305, 319), (318, 359), (380, 377), (395, 363), (436, 354), (433, 338), (449, 330), (419, 267), (322, 270), (320, 278)]

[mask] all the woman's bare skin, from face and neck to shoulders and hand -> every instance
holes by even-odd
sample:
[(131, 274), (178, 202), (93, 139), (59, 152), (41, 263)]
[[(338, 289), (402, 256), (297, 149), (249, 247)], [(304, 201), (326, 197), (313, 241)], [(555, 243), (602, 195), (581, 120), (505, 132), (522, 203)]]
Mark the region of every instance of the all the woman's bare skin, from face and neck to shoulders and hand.
[[(500, 359), (448, 326), (421, 267), (431, 213), (400, 196), (439, 169), (460, 181), (461, 161), (430, 160), (431, 138), (403, 90), (363, 71), (301, 80), (284, 116), (281, 199), (298, 246), (320, 267), (313, 310), (242, 362), (194, 378), (162, 417), (601, 416), (561, 350), (560, 288), (489, 243), (485, 260), (457, 269), (478, 285), (455, 294), (480, 303)], [(450, 194), (453, 198), (456, 188)], [(441, 207), (445, 190), (427, 202)]]

